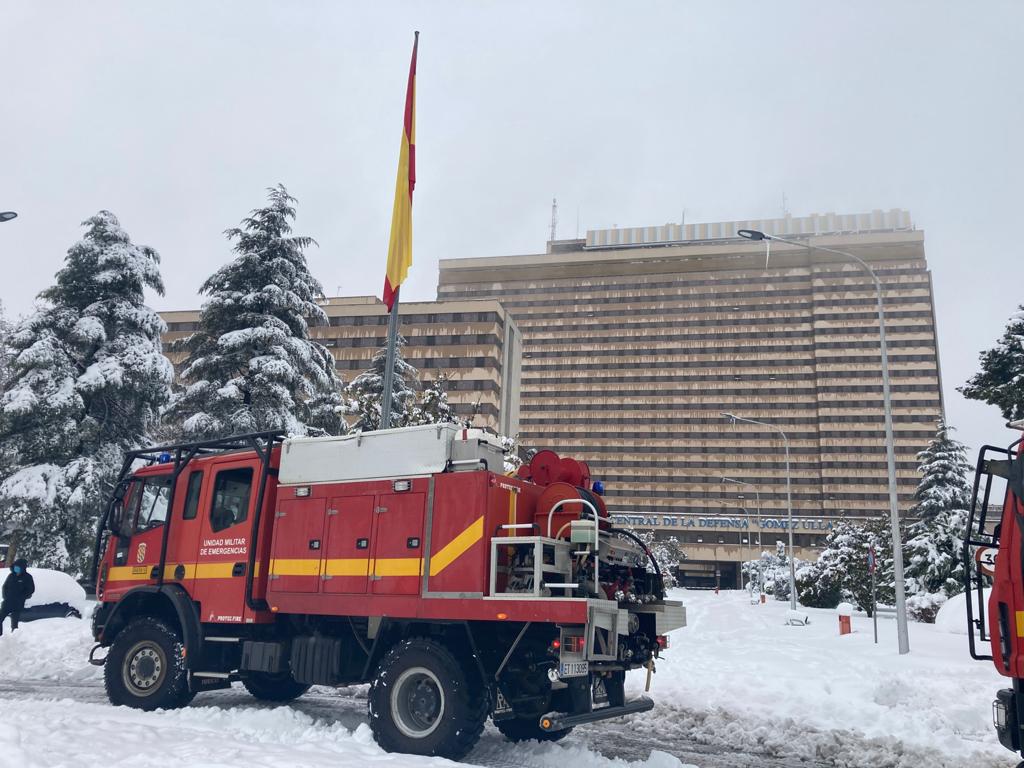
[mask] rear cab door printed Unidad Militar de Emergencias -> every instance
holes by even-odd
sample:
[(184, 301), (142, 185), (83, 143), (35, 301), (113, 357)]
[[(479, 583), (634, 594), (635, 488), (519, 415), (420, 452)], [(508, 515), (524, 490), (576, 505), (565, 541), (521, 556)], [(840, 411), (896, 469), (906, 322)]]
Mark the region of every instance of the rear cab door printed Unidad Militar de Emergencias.
[(246, 568), (260, 462), (255, 457), (206, 465), (208, 493), (200, 498), (194, 598), (204, 622), (252, 620), (245, 604)]

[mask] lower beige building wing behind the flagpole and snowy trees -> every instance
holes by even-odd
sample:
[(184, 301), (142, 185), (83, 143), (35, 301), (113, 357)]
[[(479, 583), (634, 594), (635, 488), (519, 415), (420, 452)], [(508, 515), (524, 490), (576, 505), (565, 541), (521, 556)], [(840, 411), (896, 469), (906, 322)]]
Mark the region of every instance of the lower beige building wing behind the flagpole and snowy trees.
[[(329, 298), (323, 307), (330, 326), (310, 328), (309, 335), (331, 350), (338, 373), (351, 381), (386, 343), (387, 309), (376, 296)], [(161, 316), (168, 328), (165, 344), (198, 327), (198, 310), (161, 312)], [(424, 384), (445, 373), (456, 414), (500, 434), (518, 431), (522, 337), (500, 303), (402, 302), (398, 316), (408, 341), (403, 354), (419, 369)], [(173, 353), (169, 356), (179, 361)]]

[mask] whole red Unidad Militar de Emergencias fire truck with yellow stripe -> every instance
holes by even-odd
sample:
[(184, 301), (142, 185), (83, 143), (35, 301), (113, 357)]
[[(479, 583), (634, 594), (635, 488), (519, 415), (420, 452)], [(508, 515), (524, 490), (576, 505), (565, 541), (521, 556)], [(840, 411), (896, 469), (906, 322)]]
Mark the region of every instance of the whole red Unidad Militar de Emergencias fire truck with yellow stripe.
[(649, 681), (685, 609), (586, 463), (542, 451), (506, 476), (503, 458), (452, 424), (130, 454), (96, 537), (110, 700), (369, 682), (384, 749), (453, 759), (488, 716), (554, 740), (649, 710), (626, 672)]

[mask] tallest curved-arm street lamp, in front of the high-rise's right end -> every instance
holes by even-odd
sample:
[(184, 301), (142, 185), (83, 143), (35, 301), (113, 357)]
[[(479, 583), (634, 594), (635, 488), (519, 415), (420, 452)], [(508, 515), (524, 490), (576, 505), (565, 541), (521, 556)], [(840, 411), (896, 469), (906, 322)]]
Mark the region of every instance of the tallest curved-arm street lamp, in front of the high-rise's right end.
[(834, 253), (859, 264), (874, 283), (874, 296), (879, 308), (879, 340), (882, 347), (882, 399), (885, 412), (886, 423), (886, 465), (889, 470), (889, 522), (893, 539), (893, 569), (896, 578), (896, 635), (899, 639), (899, 652), (910, 652), (910, 638), (906, 627), (906, 586), (903, 584), (903, 548), (902, 538), (899, 530), (899, 496), (896, 488), (896, 444), (893, 438), (893, 403), (892, 393), (889, 387), (889, 346), (886, 343), (886, 313), (882, 304), (882, 282), (874, 270), (868, 266), (859, 256), (855, 256), (847, 251), (839, 251), (835, 248), (823, 246), (812, 246), (809, 243), (801, 243), (796, 240), (777, 238), (774, 234), (766, 234), (759, 229), (740, 229), (736, 232), (740, 238), (753, 241), (765, 241), (767, 247), (771, 241), (785, 243), (791, 246), (799, 246), (809, 251), (824, 251)]

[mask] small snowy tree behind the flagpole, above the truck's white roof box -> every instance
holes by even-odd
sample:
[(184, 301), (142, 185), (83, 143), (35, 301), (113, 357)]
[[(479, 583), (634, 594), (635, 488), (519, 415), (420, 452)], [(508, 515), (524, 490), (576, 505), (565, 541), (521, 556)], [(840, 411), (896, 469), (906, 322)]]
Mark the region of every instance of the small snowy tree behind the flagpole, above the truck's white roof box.
[[(406, 339), (400, 334), (394, 357), (394, 378), (391, 386), (391, 427), (408, 427), (418, 423), (416, 392), (420, 388), (420, 372), (406, 360), (401, 348)], [(378, 349), (370, 362), (370, 368), (356, 376), (345, 387), (348, 404), (345, 413), (354, 417), (352, 429), (372, 432), (381, 427), (381, 396), (384, 393), (384, 368), (387, 365), (387, 348)]]

